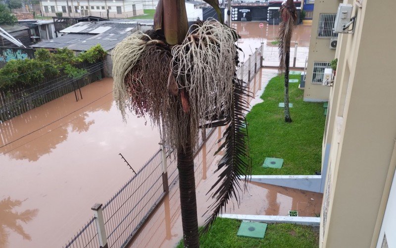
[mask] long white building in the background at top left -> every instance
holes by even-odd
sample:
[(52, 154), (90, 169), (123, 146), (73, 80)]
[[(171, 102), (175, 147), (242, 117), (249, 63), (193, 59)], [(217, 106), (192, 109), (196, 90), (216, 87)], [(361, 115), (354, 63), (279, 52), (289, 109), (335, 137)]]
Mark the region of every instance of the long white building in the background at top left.
[(128, 18), (143, 15), (142, 1), (137, 0), (41, 0), (44, 16), (62, 13), (66, 17), (98, 16), (107, 18)]

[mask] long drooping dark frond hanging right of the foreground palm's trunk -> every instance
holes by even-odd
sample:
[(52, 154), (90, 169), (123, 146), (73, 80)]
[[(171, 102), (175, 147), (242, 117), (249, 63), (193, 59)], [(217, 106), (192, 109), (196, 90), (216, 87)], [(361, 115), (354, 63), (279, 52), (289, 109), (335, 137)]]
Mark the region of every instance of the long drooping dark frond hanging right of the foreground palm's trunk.
[[(211, 198), (215, 201), (205, 212), (211, 211), (211, 216), (207, 218), (202, 232), (207, 232), (215, 218), (222, 213), (223, 209), (231, 198), (235, 197), (239, 204), (239, 190), (246, 188), (248, 175), (251, 175), (251, 164), (247, 150), (247, 129), (245, 129), (245, 113), (248, 103), (245, 97), (249, 96), (244, 82), (236, 77), (233, 78), (234, 92), (232, 99), (232, 111), (229, 126), (223, 133), (224, 143), (216, 151), (225, 149), (225, 154), (218, 164), (215, 173), (220, 171), (218, 180), (209, 189)], [(241, 176), (245, 180), (241, 180)], [(243, 182), (243, 186), (241, 185)], [(208, 193), (209, 193), (208, 192)]]

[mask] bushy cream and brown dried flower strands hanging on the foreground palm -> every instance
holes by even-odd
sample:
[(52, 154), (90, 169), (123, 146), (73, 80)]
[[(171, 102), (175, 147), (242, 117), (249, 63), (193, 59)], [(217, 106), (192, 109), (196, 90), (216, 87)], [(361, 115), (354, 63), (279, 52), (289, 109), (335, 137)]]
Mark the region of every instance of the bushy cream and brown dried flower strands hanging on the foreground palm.
[[(153, 31), (120, 42), (112, 55), (113, 94), (123, 117), (129, 108), (157, 125), (167, 145), (185, 148), (188, 142), (194, 147), (198, 126), (231, 109), (236, 40), (235, 30), (205, 21), (193, 25), (184, 42), (173, 47)], [(169, 94), (172, 77), (177, 95)], [(181, 91), (188, 97), (188, 113)]]

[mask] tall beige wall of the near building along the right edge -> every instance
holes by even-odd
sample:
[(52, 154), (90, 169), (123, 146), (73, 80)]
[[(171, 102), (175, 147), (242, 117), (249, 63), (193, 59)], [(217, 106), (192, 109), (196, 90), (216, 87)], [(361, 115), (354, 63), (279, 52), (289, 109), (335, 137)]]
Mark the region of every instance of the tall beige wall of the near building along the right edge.
[[(375, 247), (396, 166), (396, 84), (390, 73), (396, 50), (389, 49), (396, 34), (384, 32), (396, 25), (396, 2), (344, 3), (354, 6), (356, 28), (354, 34), (339, 36), (336, 53), (324, 140), (331, 148), (320, 246)], [(372, 21), (380, 15), (380, 23)]]

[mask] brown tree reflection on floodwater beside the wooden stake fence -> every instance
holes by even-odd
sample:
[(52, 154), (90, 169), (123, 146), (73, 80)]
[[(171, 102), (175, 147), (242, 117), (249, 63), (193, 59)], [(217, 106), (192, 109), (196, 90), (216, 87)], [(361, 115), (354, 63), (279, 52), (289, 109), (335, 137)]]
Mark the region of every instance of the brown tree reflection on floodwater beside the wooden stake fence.
[[(90, 118), (92, 113), (109, 112), (112, 107), (112, 102), (106, 102), (91, 111), (69, 114), (67, 108), (59, 109), (60, 100), (63, 99), (56, 99), (28, 111), (23, 116), (0, 124), (0, 140), (2, 141), (0, 142), (0, 153), (7, 154), (11, 159), (37, 161), (41, 156), (49, 154), (58, 144), (67, 140), (70, 132), (87, 132), (90, 126), (95, 124), (95, 120)], [(60, 117), (56, 120), (59, 114), (63, 115), (63, 118)], [(60, 119), (61, 122), (59, 122)], [(31, 128), (29, 124), (37, 123), (38, 120), (47, 121), (48, 124), (43, 123), (44, 126), (40, 126), (38, 129)], [(51, 123), (50, 120), (54, 121)], [(38, 140), (49, 132), (54, 135), (50, 135), (45, 142)], [(22, 143), (20, 139), (25, 135), (30, 135), (29, 140)]]

